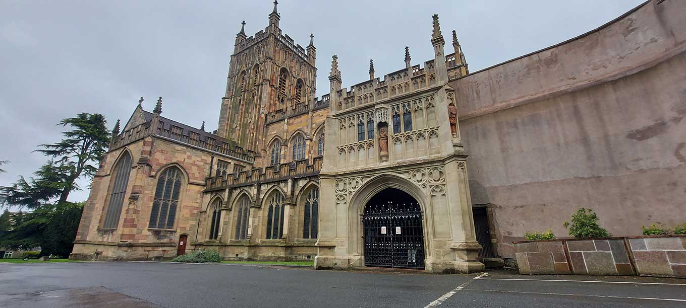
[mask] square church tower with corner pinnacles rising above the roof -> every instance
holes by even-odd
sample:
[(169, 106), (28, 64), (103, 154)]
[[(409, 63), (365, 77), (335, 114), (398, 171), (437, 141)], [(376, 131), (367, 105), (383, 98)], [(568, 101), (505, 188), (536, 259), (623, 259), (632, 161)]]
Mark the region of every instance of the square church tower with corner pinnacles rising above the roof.
[(309, 109), (316, 92), (316, 49), (307, 49), (281, 33), (278, 2), (269, 25), (246, 36), (245, 21), (236, 35), (222, 98), (217, 135), (259, 153), (265, 149), (265, 125)]

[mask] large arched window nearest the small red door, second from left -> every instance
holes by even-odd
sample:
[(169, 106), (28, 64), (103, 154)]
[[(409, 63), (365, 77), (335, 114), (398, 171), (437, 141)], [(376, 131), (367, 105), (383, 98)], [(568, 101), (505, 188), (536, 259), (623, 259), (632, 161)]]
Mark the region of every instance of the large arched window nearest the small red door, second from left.
[(152, 229), (174, 229), (178, 196), (181, 192), (181, 170), (176, 167), (167, 168), (157, 179), (155, 199), (152, 202), (150, 224)]

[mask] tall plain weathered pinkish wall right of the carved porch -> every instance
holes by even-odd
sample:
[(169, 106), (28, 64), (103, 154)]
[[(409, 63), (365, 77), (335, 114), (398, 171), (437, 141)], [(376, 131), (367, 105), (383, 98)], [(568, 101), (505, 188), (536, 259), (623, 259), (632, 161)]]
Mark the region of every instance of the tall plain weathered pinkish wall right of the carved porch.
[(595, 209), (615, 235), (686, 221), (686, 1), (649, 1), (549, 49), (451, 81), (473, 204), (499, 254)]

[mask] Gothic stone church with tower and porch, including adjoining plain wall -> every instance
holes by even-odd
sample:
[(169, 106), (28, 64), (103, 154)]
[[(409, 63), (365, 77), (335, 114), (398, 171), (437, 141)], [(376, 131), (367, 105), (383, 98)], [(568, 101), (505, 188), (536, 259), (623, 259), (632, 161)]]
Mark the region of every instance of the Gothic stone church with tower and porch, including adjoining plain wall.
[(302, 47), (283, 34), (274, 1), (265, 29), (236, 35), (217, 131), (165, 118), (161, 97), (117, 121), (71, 258), (202, 249), (473, 272), (512, 257), (525, 231), (564, 236), (576, 207), (621, 235), (681, 222), (684, 8), (648, 1), (473, 73), (456, 31), (445, 51), (435, 14), (431, 36), (413, 38), (433, 58), (413, 63), (405, 48), (398, 70), (381, 79), (370, 61), (369, 79), (343, 88), (333, 55), (329, 94), (316, 97), (313, 36)]

